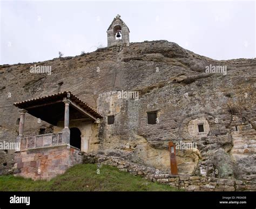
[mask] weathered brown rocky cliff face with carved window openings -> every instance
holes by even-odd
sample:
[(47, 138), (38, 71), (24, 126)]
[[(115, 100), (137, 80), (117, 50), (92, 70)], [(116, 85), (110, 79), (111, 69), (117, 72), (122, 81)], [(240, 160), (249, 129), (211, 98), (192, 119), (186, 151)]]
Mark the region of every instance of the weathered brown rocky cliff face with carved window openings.
[[(30, 73), (33, 65), (51, 66), (52, 73)], [(206, 66), (226, 66), (227, 73), (206, 73)], [(2, 65), (0, 140), (17, 136), (14, 102), (66, 90), (100, 114), (114, 115), (114, 124), (100, 123), (93, 151), (169, 171), (168, 142), (193, 142), (196, 148), (177, 150), (179, 173), (255, 180), (255, 70), (256, 59), (212, 60), (163, 40)], [(139, 99), (120, 98), (122, 90)], [(147, 112), (157, 112), (157, 124), (147, 124)], [(42, 126), (51, 130), (26, 115), (25, 134)], [(13, 151), (0, 152), (1, 173), (11, 172)]]

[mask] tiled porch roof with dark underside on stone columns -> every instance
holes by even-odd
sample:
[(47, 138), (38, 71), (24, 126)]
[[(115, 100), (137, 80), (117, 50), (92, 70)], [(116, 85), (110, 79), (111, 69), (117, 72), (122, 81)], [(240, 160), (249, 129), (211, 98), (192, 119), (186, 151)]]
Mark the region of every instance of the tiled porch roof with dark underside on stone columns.
[(96, 120), (97, 118), (103, 117), (71, 92), (61, 92), (37, 97), (35, 99), (16, 102), (14, 105), (20, 109), (25, 109), (30, 115), (56, 126), (58, 121), (64, 121), (64, 99), (70, 101), (70, 120)]

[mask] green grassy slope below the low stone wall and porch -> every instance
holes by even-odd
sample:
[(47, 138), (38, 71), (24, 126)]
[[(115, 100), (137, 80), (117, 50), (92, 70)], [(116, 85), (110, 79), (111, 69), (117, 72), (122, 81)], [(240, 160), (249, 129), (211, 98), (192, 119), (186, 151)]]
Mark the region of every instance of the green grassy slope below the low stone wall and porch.
[(99, 170), (97, 174), (95, 164), (78, 164), (48, 182), (0, 176), (0, 191), (178, 191), (109, 165), (103, 165)]

